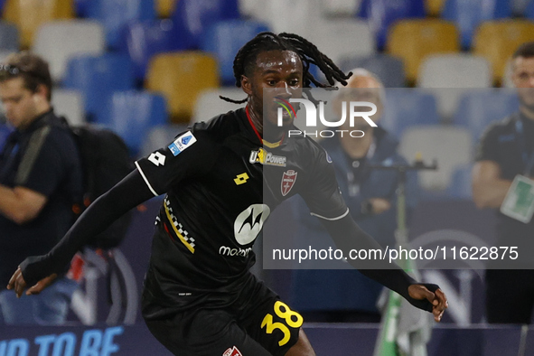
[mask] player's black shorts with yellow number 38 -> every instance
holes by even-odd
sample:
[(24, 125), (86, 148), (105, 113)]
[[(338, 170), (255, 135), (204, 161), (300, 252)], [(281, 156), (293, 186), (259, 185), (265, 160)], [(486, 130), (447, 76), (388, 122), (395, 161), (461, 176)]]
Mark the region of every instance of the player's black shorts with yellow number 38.
[(207, 302), (145, 323), (174, 355), (283, 356), (298, 341), (303, 318), (263, 282), (249, 281), (229, 307)]

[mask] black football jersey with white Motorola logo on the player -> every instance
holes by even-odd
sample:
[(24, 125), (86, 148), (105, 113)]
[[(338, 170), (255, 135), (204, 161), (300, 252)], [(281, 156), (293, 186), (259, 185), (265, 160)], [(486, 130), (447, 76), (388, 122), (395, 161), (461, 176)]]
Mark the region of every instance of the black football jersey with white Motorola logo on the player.
[(264, 222), (289, 197), (323, 219), (348, 213), (323, 148), (304, 136), (262, 142), (245, 108), (195, 124), (136, 167), (166, 193), (145, 290), (175, 306), (238, 291)]

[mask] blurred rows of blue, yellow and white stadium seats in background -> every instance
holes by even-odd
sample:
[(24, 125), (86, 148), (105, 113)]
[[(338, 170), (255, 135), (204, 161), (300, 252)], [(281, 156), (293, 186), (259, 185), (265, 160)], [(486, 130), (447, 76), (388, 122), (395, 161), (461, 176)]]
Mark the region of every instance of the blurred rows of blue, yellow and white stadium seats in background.
[[(469, 198), (474, 147), (517, 111), (510, 57), (534, 40), (534, 0), (0, 0), (0, 60), (50, 62), (52, 103), (70, 123), (108, 126), (132, 156), (239, 108), (236, 52), (256, 33), (297, 33), (342, 70), (386, 87), (381, 125), (418, 152), (423, 197)], [(321, 73), (312, 68), (321, 79)], [(404, 88), (404, 89), (403, 89)], [(0, 145), (10, 128), (0, 124)]]

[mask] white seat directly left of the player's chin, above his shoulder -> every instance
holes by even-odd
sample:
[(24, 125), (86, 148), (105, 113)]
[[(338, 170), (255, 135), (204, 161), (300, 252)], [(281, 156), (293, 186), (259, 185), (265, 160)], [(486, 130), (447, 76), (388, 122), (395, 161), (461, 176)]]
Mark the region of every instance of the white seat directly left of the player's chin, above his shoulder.
[(219, 98), (219, 96), (233, 98), (234, 100), (247, 98), (247, 94), (245, 94), (243, 89), (240, 88), (202, 90), (194, 105), (191, 124), (194, 124), (195, 122), (208, 121), (211, 119), (211, 117), (224, 114), (230, 110), (244, 108), (246, 105), (233, 104), (228, 101), (224, 101), (223, 99)]

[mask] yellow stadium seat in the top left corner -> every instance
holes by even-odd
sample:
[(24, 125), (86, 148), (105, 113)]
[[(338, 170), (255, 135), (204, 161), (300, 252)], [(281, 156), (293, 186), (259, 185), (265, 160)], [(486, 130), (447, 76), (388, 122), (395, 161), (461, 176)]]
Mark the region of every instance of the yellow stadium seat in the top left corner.
[(24, 49), (32, 45), (42, 23), (70, 18), (74, 18), (73, 0), (7, 0), (4, 6), (4, 19), (18, 27)]

